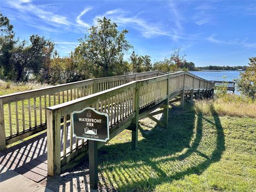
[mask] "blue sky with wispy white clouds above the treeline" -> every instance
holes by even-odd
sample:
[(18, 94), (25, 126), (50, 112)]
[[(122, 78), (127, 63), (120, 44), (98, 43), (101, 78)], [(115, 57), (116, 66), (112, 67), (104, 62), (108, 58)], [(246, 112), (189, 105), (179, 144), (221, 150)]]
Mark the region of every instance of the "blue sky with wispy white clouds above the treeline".
[(134, 51), (153, 61), (169, 58), (174, 47), (196, 66), (247, 65), (256, 55), (256, 1), (22, 0), (1, 1), (1, 11), (17, 37), (51, 38), (61, 56), (103, 16), (128, 29)]

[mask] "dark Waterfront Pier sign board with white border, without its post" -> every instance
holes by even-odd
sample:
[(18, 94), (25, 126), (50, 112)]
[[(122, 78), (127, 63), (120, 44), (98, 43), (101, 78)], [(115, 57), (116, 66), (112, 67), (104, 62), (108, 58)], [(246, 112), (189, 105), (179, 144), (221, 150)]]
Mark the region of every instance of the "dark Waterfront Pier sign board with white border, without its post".
[(106, 142), (109, 140), (108, 115), (86, 107), (71, 113), (73, 134), (76, 138)]

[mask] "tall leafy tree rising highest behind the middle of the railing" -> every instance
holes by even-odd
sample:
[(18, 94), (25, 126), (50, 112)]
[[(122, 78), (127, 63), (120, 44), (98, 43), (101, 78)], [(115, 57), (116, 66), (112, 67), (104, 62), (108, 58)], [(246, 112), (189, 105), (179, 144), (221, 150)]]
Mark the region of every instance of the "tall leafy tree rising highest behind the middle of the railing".
[(118, 31), (116, 23), (103, 17), (87, 31), (89, 35), (79, 39), (75, 54), (92, 65), (95, 77), (113, 76), (120, 68), (118, 61), (123, 61), (124, 52), (132, 48), (125, 39), (128, 30)]

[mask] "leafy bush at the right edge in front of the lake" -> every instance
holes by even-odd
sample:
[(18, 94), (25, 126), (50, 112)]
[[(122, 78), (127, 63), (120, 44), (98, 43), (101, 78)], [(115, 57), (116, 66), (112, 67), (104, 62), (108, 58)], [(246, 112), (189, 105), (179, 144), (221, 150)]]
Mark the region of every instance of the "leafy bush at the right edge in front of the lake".
[(238, 90), (244, 95), (256, 99), (256, 57), (249, 58), (249, 67), (239, 75)]

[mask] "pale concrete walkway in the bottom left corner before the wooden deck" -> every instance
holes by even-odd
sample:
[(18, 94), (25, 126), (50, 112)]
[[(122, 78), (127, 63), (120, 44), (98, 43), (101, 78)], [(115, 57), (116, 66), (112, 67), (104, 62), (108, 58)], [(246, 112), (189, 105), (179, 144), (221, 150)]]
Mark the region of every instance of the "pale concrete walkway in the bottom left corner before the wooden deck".
[(52, 190), (36, 183), (23, 175), (7, 169), (5, 166), (0, 165), (0, 191), (12, 192), (52, 192)]

